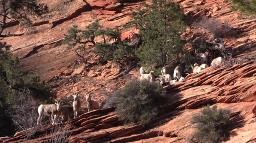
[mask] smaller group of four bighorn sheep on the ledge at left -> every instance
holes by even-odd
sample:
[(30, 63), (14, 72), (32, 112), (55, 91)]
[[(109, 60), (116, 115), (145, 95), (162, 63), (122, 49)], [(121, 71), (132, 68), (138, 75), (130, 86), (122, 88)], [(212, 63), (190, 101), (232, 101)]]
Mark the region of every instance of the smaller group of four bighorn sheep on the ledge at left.
[[(91, 93), (85, 94), (86, 98), (86, 104), (88, 111), (91, 111)], [(79, 108), (81, 107), (81, 102), (79, 100), (79, 94), (72, 95), (74, 97), (72, 106), (71, 105), (61, 105), (61, 102), (58, 102), (55, 100), (55, 104), (41, 104), (38, 107), (38, 119), (37, 119), (37, 125), (41, 125), (41, 120), (43, 116), (50, 116), (50, 123), (52, 125), (55, 125), (57, 123), (58, 118), (61, 118), (62, 120), (68, 119), (70, 120), (71, 117), (74, 115), (74, 117), (77, 117), (79, 115)], [(71, 101), (70, 101), (71, 102)]]

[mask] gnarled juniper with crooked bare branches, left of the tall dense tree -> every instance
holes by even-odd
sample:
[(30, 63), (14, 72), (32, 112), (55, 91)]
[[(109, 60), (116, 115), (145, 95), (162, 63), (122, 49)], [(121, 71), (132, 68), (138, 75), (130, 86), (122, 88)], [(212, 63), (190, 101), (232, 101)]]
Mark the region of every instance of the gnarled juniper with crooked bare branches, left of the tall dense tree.
[[(103, 42), (95, 42), (95, 37), (100, 36)], [(126, 41), (121, 40), (121, 31), (119, 27), (115, 29), (101, 29), (98, 20), (89, 24), (86, 30), (80, 30), (77, 26), (71, 27), (65, 35), (63, 41), (67, 48), (74, 48), (76, 54), (82, 58), (83, 62), (91, 57), (86, 57), (89, 52), (93, 51), (100, 55), (104, 61), (113, 60), (117, 63), (134, 60), (134, 48)], [(95, 48), (92, 48), (94, 46)]]

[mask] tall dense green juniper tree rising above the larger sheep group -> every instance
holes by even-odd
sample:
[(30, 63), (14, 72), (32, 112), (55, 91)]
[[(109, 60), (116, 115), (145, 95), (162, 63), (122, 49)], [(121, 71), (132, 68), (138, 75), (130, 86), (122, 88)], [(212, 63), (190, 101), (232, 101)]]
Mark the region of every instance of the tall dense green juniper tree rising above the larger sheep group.
[(142, 45), (135, 51), (141, 64), (164, 66), (178, 58), (183, 42), (183, 11), (176, 2), (152, 0), (132, 15), (132, 24), (142, 35)]

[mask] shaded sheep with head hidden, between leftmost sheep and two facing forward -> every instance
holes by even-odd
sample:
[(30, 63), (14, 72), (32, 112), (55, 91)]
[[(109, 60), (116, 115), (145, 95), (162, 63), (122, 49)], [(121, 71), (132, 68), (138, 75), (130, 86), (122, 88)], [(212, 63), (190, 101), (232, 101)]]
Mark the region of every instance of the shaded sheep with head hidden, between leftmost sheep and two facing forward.
[(62, 105), (58, 111), (58, 117), (61, 117), (62, 120), (70, 120), (73, 114), (73, 107), (71, 107), (70, 105)]

